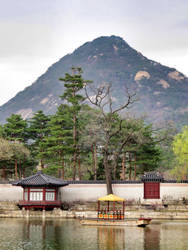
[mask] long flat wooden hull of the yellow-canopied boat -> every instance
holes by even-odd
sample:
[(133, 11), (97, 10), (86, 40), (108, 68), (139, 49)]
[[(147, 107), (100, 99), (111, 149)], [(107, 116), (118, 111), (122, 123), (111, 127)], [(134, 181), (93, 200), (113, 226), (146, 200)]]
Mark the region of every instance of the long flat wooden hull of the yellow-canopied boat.
[(81, 219), (82, 225), (88, 226), (137, 226), (146, 227), (151, 222), (150, 218), (124, 219), (124, 220), (100, 220), (100, 219)]

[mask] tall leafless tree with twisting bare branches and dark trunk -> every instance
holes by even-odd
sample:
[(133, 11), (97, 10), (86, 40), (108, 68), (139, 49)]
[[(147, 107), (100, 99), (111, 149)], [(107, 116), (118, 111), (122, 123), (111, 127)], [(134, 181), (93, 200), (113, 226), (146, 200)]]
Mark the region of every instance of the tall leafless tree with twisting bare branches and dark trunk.
[[(90, 95), (89, 95), (90, 90)], [(92, 92), (92, 94), (91, 94)], [(135, 101), (135, 93), (130, 93), (128, 88), (125, 88), (125, 101), (122, 105), (117, 107), (116, 103), (113, 101), (111, 95), (111, 85), (103, 84), (96, 89), (88, 89), (88, 85), (85, 85), (85, 94), (88, 101), (96, 106), (102, 113), (102, 130), (104, 142), (102, 145), (103, 154), (103, 166), (105, 169), (105, 177), (107, 184), (107, 193), (112, 194), (112, 171), (111, 171), (111, 158), (113, 152), (111, 152), (111, 141), (116, 136), (120, 135), (122, 131), (123, 119), (119, 116), (119, 113), (125, 109), (128, 109)], [(123, 147), (129, 140), (129, 136), (121, 141), (119, 150), (116, 150), (114, 154), (114, 164), (117, 164), (118, 155), (121, 153)], [(115, 167), (115, 166), (114, 166)]]

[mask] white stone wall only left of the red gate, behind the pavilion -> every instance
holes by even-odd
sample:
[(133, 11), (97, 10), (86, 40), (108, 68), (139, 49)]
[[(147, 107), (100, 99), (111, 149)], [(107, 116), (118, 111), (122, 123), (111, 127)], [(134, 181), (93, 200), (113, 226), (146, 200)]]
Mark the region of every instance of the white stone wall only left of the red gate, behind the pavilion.
[[(143, 184), (114, 184), (114, 194), (127, 200), (139, 200), (143, 198)], [(99, 197), (106, 195), (105, 184), (70, 184), (60, 189), (61, 200), (72, 201), (97, 201)], [(11, 184), (0, 184), (0, 201), (22, 200), (22, 187)]]

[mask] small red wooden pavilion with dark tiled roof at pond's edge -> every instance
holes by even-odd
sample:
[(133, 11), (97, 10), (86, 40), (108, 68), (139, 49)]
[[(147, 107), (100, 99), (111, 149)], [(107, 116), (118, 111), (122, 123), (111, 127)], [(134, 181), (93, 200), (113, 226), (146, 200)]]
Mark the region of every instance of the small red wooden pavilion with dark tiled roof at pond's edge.
[(46, 210), (61, 207), (59, 188), (68, 183), (39, 171), (35, 175), (14, 182), (13, 185), (23, 187), (23, 200), (19, 201), (21, 208)]

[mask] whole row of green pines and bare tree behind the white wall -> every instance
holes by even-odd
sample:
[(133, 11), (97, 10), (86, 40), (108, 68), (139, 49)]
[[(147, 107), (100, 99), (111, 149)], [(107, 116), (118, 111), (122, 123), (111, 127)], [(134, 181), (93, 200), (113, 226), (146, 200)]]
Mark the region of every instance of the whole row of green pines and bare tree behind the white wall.
[(135, 93), (125, 88), (125, 100), (118, 105), (111, 86), (92, 87), (81, 68), (72, 68), (60, 81), (64, 92), (55, 114), (39, 110), (28, 120), (12, 114), (0, 126), (2, 178), (25, 177), (38, 165), (63, 179), (104, 179), (112, 193), (112, 179), (135, 180), (160, 168), (164, 151), (169, 151), (166, 132), (157, 133), (143, 118), (125, 115)]

